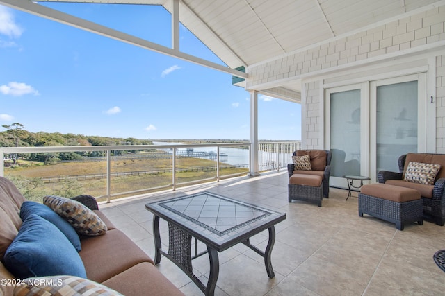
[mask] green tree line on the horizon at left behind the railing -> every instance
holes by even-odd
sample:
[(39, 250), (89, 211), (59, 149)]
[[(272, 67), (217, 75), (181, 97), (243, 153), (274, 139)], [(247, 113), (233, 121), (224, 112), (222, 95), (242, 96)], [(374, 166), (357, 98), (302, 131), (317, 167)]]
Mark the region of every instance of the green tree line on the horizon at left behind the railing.
[[(83, 134), (61, 134), (60, 132), (29, 132), (21, 123), (2, 125), (0, 132), (1, 147), (42, 147), (42, 146), (117, 146), (117, 145), (151, 145), (152, 141), (136, 138), (112, 138), (85, 136)], [(135, 151), (115, 151), (118, 153), (134, 153)], [(13, 164), (21, 157), (38, 162), (57, 162), (60, 160), (76, 160), (83, 157), (104, 156), (104, 151), (61, 152), (61, 153), (27, 153), (11, 155)]]

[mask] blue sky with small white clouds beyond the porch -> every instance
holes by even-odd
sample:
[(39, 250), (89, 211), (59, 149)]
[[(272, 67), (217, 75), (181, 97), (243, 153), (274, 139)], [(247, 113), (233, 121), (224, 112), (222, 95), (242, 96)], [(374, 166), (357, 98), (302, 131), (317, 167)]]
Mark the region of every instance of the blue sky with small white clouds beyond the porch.
[[(171, 46), (161, 6), (45, 3)], [(181, 26), (184, 53), (223, 64)], [(259, 139), (301, 139), (300, 105), (259, 96)], [(249, 139), (232, 76), (0, 6), (0, 125), (138, 139)], [(3, 128), (1, 128), (3, 129)]]

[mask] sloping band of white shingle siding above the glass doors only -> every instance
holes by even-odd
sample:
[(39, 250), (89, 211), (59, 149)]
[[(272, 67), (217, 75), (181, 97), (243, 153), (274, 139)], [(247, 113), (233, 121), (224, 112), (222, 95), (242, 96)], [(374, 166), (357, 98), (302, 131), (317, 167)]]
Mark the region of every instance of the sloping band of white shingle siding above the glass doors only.
[(429, 49), (437, 42), (443, 45), (444, 24), (445, 6), (440, 6), (312, 49), (253, 65), (248, 68), (247, 89), (277, 80), (304, 78), (309, 73), (323, 73), (325, 69), (344, 69), (362, 64), (365, 60), (371, 62), (402, 53), (414, 53)]

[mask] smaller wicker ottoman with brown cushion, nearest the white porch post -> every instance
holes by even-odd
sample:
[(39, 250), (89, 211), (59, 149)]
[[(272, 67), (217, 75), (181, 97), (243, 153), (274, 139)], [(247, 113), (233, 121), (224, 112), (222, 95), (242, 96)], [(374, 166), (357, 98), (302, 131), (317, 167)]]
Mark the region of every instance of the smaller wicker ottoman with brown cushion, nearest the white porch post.
[(321, 207), (323, 200), (323, 178), (318, 175), (293, 174), (289, 178), (289, 202), (305, 200)]

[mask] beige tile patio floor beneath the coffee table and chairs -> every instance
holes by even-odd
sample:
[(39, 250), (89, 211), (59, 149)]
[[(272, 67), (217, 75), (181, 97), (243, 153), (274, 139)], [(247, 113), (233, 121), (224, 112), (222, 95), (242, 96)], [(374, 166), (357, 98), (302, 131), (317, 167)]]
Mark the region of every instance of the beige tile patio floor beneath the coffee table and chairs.
[[(152, 214), (145, 210), (147, 202), (210, 191), (286, 212), (286, 220), (275, 227), (275, 278), (268, 278), (261, 256), (239, 244), (219, 254), (215, 295), (445, 295), (445, 272), (432, 260), (437, 250), (445, 249), (445, 227), (413, 223), (401, 232), (394, 224), (366, 214), (361, 218), (357, 198), (346, 201), (347, 191), (342, 189), (331, 189), (323, 207), (289, 203), (287, 180), (284, 171), (237, 177), (140, 195), (100, 208), (152, 258)], [(167, 250), (166, 223), (161, 223), (161, 240)], [(263, 249), (266, 240), (267, 233), (251, 238)], [(204, 246), (198, 243), (198, 247)], [(207, 255), (193, 261), (195, 274), (204, 282), (208, 261)], [(185, 295), (203, 295), (168, 259), (163, 258), (158, 268)]]

